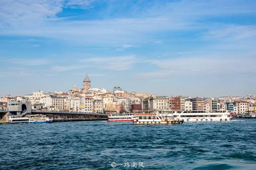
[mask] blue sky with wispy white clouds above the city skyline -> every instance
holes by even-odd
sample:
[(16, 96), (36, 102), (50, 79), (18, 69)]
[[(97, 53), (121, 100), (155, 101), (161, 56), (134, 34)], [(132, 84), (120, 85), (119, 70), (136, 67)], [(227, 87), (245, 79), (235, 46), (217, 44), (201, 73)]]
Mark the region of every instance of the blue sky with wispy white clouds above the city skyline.
[(256, 93), (256, 1), (0, 0), (0, 96)]

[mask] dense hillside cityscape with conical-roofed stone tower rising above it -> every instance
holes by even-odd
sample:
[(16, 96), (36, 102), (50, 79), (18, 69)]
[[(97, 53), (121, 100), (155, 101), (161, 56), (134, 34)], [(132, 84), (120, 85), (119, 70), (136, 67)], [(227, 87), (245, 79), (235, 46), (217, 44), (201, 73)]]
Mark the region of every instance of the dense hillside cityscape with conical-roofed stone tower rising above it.
[(79, 111), (94, 113), (130, 113), (136, 110), (173, 111), (224, 111), (234, 114), (256, 112), (256, 94), (247, 96), (223, 96), (218, 98), (191, 96), (156, 96), (126, 92), (121, 87), (114, 87), (110, 92), (104, 88), (91, 88), (88, 74), (83, 80), (83, 88), (77, 89), (74, 84), (67, 92), (33, 91), (24, 96), (4, 96), (1, 98), (0, 109), (7, 109), (10, 101), (29, 101), (32, 110), (46, 111)]

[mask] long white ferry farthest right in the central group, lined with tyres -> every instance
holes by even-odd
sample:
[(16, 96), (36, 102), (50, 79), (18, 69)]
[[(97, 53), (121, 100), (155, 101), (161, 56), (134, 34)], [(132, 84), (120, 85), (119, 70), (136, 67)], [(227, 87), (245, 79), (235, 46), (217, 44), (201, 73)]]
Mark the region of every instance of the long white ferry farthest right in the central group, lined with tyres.
[(174, 117), (183, 121), (231, 121), (230, 111), (173, 111)]

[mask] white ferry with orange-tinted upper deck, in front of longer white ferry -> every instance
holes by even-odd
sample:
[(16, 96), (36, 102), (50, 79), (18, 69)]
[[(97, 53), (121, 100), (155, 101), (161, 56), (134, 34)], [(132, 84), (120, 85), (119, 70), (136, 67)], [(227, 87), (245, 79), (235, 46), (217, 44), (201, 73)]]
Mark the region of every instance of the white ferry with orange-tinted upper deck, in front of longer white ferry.
[(134, 124), (181, 124), (184, 121), (175, 118), (171, 110), (160, 110), (147, 113), (134, 113), (136, 119), (133, 121)]

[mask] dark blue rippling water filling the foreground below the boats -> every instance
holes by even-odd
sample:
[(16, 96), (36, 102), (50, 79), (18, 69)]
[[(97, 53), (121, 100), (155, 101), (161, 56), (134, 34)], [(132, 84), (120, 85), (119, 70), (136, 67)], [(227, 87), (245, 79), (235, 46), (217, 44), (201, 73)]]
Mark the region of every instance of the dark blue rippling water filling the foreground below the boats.
[(256, 120), (0, 125), (0, 145), (0, 169), (255, 170)]

